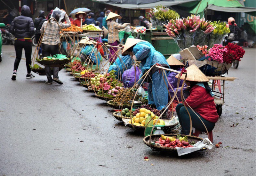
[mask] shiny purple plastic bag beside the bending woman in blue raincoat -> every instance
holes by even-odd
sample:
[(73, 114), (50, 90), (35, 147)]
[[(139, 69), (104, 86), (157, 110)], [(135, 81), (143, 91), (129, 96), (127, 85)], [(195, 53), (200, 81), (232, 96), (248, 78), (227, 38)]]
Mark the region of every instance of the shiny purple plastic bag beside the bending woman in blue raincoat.
[(122, 74), (124, 87), (131, 88), (132, 86), (134, 86), (134, 83), (136, 83), (140, 79), (140, 73), (141, 73), (140, 68), (136, 67), (136, 80), (135, 80), (134, 67), (132, 67), (128, 70), (125, 70), (124, 73)]

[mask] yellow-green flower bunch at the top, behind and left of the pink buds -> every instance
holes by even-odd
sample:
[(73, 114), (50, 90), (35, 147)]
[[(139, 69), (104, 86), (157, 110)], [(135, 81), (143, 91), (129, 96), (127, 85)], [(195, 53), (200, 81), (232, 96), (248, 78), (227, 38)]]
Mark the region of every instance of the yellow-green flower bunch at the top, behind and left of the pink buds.
[(152, 27), (156, 27), (163, 26), (163, 23), (167, 23), (170, 19), (180, 18), (180, 15), (168, 7), (158, 5), (148, 12), (148, 17), (151, 19)]

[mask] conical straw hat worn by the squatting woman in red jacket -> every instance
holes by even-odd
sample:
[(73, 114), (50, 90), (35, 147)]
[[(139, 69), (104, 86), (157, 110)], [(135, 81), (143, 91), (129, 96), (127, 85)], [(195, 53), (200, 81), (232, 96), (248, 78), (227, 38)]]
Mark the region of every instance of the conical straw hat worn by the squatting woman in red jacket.
[[(189, 66), (188, 68), (186, 68), (187, 70), (187, 78), (186, 81), (196, 81), (196, 82), (208, 82), (208, 78), (203, 74), (203, 72), (201, 72), (199, 70), (198, 67), (196, 67), (195, 64)], [(179, 78), (179, 74), (177, 74), (175, 76), (176, 78)], [(182, 76), (180, 76), (181, 80), (185, 79), (185, 74), (182, 74)]]

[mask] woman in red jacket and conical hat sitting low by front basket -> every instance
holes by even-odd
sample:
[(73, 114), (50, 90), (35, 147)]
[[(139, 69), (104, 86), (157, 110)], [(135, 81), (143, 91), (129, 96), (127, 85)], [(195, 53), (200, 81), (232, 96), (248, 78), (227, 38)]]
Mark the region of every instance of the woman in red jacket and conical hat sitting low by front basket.
[[(188, 112), (191, 116), (192, 126), (196, 130), (206, 131), (206, 127), (208, 131), (212, 131), (219, 116), (214, 103), (214, 94), (208, 85), (209, 80), (194, 64), (186, 68), (186, 70), (186, 84), (190, 87), (190, 95), (184, 102), (186, 103), (188, 111), (182, 103), (178, 104), (176, 107), (182, 129), (181, 133), (189, 135), (190, 119)], [(176, 78), (178, 78), (178, 75), (176, 75)], [(184, 78), (185, 75), (183, 74), (180, 79), (184, 80)], [(194, 113), (188, 105), (196, 113)], [(203, 121), (205, 127), (198, 117)]]

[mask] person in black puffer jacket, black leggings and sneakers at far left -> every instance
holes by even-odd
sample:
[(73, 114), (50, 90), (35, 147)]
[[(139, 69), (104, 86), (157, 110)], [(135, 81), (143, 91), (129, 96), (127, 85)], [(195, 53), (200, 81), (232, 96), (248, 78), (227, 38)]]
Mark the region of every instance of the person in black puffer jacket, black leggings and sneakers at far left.
[(20, 64), (22, 49), (25, 50), (27, 76), (26, 78), (34, 78), (31, 74), (29, 65), (31, 64), (31, 53), (32, 53), (32, 41), (31, 37), (34, 35), (34, 23), (30, 18), (30, 9), (27, 5), (23, 5), (21, 8), (20, 16), (14, 18), (11, 23), (10, 31), (15, 35), (14, 48), (16, 52), (16, 59), (14, 62), (12, 80), (16, 80), (17, 70)]

